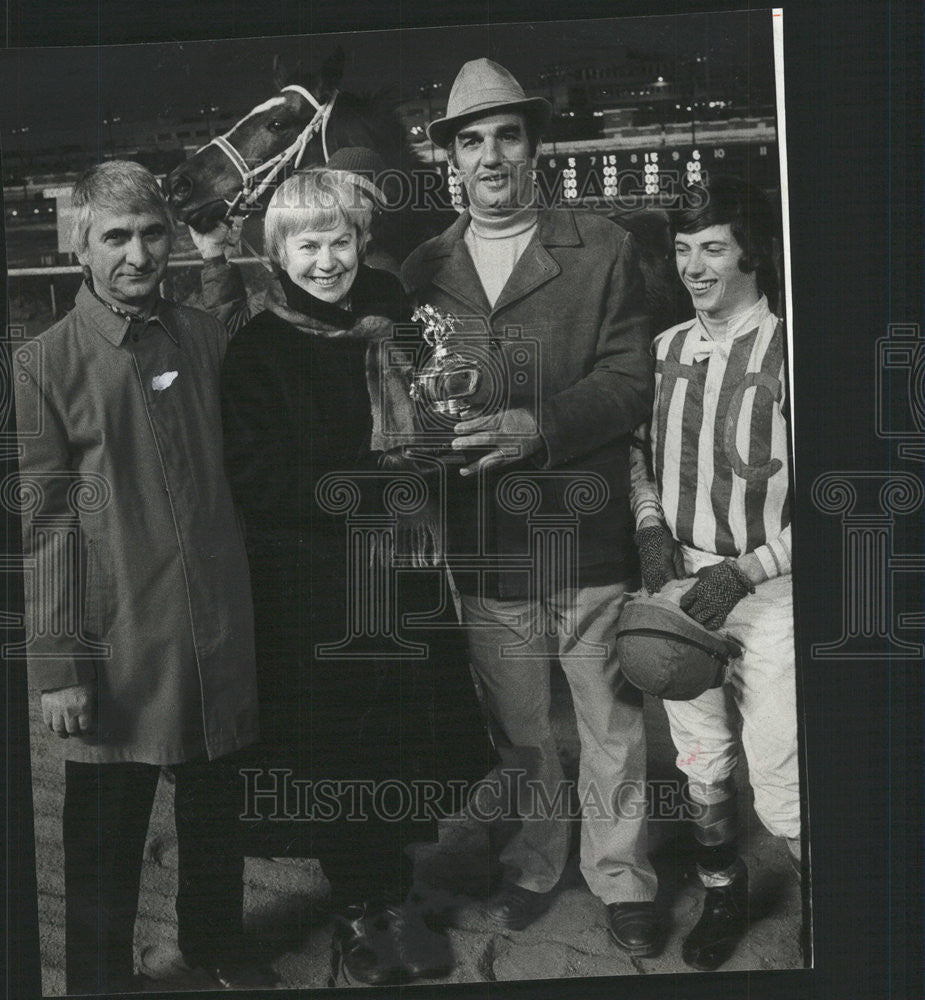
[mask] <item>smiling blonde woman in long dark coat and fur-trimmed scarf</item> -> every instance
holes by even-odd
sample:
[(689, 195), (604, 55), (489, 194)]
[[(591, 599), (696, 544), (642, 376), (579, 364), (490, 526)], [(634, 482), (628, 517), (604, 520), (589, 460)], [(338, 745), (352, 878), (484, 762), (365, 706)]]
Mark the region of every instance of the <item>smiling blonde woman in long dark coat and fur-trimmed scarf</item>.
[[(406, 848), (434, 838), (433, 818), (376, 815), (375, 792), (358, 792), (391, 782), (392, 803), (401, 789), (410, 801), (419, 780), (474, 780), (489, 763), (461, 643), (447, 656), (432, 643), (429, 660), (383, 659), (374, 641), (365, 660), (319, 651), (343, 637), (351, 584), (344, 519), (319, 506), (316, 486), (331, 472), (378, 467), (376, 358), (410, 313), (397, 278), (363, 263), (380, 197), (367, 176), (339, 170), (280, 186), (265, 221), (276, 280), (264, 311), (232, 341), (223, 374), (226, 463), (253, 578), (264, 760), (313, 789), (339, 783), (321, 818), (315, 810), (313, 821), (289, 824), (291, 853), (318, 858), (331, 882), (337, 972), (379, 984), (443, 975), (452, 954), (406, 902)], [(392, 398), (410, 405), (404, 386)]]

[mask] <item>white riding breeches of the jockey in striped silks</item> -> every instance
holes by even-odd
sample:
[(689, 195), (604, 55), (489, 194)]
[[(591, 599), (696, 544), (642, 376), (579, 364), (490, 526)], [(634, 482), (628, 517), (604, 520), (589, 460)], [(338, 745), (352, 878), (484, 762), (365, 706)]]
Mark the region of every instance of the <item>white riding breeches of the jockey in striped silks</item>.
[[(687, 553), (685, 553), (687, 556)], [(693, 572), (699, 566), (688, 566)], [(686, 590), (690, 581), (684, 581)], [(800, 775), (797, 756), (796, 672), (793, 648), (792, 578), (775, 577), (732, 609), (720, 630), (743, 646), (727, 684), (693, 701), (666, 701), (678, 767), (691, 798), (712, 804), (728, 798), (739, 757), (730, 697), (742, 716), (742, 749), (755, 793), (755, 812), (779, 837), (800, 836)]]

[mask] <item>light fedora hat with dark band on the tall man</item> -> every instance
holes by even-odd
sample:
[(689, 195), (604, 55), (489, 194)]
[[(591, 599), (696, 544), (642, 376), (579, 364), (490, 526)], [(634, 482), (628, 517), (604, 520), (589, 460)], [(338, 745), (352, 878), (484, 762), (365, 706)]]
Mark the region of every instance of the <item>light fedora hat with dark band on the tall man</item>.
[(552, 115), (552, 105), (542, 97), (527, 97), (503, 66), (490, 59), (473, 59), (453, 81), (446, 117), (427, 126), (427, 137), (438, 146), (449, 146), (466, 121), (502, 111), (522, 111), (542, 130)]

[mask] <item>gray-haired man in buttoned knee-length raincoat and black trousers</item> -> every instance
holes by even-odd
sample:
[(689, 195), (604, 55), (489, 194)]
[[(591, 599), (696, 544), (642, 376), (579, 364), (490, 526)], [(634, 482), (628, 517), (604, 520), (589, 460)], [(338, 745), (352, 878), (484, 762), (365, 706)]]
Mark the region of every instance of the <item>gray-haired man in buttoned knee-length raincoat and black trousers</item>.
[(142, 852), (175, 776), (178, 943), (222, 986), (242, 962), (235, 751), (257, 737), (247, 560), (223, 468), (221, 324), (161, 298), (156, 179), (113, 161), (74, 189), (86, 280), (16, 355), (30, 683), (65, 758), (69, 993), (132, 988)]

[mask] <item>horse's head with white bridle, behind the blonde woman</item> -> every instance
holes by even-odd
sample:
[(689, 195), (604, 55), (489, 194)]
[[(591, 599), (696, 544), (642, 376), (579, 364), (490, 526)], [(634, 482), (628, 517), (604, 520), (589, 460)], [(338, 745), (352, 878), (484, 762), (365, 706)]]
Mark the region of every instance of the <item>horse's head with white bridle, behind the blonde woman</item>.
[[(357, 142), (329, 141), (344, 70), (342, 49), (324, 62), (317, 82), (298, 69), (288, 71), (278, 58), (273, 70), (275, 96), (252, 108), (164, 179), (178, 217), (200, 232), (243, 208), (242, 202), (253, 199), (247, 207), (255, 207), (259, 195), (287, 166), (320, 166), (340, 145), (371, 145), (361, 129), (352, 130)], [(295, 82), (299, 79), (304, 83)]]

